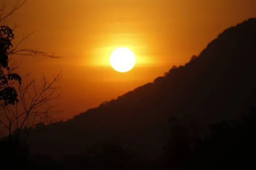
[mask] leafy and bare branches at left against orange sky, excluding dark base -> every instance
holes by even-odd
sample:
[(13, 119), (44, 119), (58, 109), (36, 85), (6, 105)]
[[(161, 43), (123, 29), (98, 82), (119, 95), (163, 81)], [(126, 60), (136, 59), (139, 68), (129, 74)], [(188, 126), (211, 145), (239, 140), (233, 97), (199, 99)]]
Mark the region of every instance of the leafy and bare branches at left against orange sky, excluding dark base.
[[(12, 9), (8, 12), (5, 11), (6, 4), (3, 4), (0, 8), (0, 24), (4, 24), (6, 19), (19, 8), (21, 8), (26, 3), (26, 1), (27, 0), (17, 0)], [(15, 73), (17, 67), (14, 65), (12, 67), (9, 66), (10, 55), (41, 55), (56, 58), (54, 55), (47, 54), (43, 51), (37, 51), (30, 48), (20, 49), (20, 44), (22, 44), (22, 42), (26, 40), (29, 35), (24, 37), (22, 40), (20, 40), (19, 43), (17, 43), (15, 47), (13, 47), (12, 41), (15, 38), (13, 30), (9, 26), (0, 26), (0, 101), (2, 101), (0, 108), (3, 112), (2, 114), (4, 114), (6, 117), (5, 121), (4, 119), (0, 119), (0, 126), (8, 129), (9, 135), (14, 130), (12, 129), (14, 122), (17, 125), (17, 134), (19, 134), (20, 130), (26, 124), (26, 121), (28, 121), (29, 117), (30, 119), (31, 117), (34, 118), (34, 120), (32, 120), (33, 123), (29, 125), (30, 128), (35, 126), (35, 117), (42, 116), (43, 113), (45, 114), (44, 118), (47, 117), (48, 119), (51, 119), (47, 113), (51, 112), (50, 108), (52, 108), (52, 106), (45, 108), (45, 111), (38, 111), (38, 108), (42, 108), (42, 106), (47, 104), (47, 102), (58, 97), (58, 94), (54, 94), (58, 87), (54, 85), (55, 82), (57, 82), (60, 78), (60, 73), (53, 78), (52, 82), (47, 82), (46, 78), (43, 77), (42, 85), (40, 88), (38, 88), (36, 87), (35, 79), (26, 84), (23, 83), (22, 85), (22, 79), (20, 75)], [(31, 89), (33, 89), (33, 91), (31, 91)], [(23, 106), (24, 111), (21, 113), (18, 113), (17, 111), (18, 102), (20, 102)], [(30, 104), (28, 105), (28, 103)], [(13, 108), (10, 105), (16, 105), (16, 107)], [(19, 122), (19, 119), (23, 119), (23, 121)], [(41, 119), (43, 118), (41, 117)], [(19, 123), (20, 125), (18, 125)]]

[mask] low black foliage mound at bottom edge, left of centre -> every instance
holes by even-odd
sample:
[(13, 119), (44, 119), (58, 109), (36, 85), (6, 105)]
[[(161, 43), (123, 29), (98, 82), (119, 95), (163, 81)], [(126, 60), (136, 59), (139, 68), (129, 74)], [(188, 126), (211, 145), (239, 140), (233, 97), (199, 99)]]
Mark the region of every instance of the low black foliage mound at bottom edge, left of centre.
[(90, 150), (85, 150), (82, 154), (65, 156), (61, 160), (54, 160), (45, 155), (35, 155), (31, 157), (30, 161), (30, 167), (33, 169), (130, 170), (134, 169), (135, 166), (125, 148), (113, 142), (95, 144)]

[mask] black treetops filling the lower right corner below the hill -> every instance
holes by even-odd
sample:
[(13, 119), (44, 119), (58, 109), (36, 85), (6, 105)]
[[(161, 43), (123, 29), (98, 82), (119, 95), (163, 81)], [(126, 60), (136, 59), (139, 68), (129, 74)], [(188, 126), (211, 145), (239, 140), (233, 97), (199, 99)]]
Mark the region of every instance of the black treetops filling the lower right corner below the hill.
[(176, 131), (170, 140), (169, 147), (172, 150), (166, 150), (164, 158), (166, 168), (174, 170), (256, 168), (255, 108), (249, 114), (244, 114), (240, 121), (223, 121), (209, 126), (210, 133), (203, 139), (185, 133), (182, 126), (176, 126), (175, 129), (180, 130)]

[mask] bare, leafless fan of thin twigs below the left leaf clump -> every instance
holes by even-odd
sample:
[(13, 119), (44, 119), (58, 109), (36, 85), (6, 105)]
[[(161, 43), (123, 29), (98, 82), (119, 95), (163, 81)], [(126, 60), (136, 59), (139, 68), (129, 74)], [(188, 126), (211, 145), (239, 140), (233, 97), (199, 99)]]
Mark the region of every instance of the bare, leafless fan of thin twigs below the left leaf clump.
[[(12, 74), (15, 68), (18, 67), (10, 69), (9, 74)], [(60, 111), (54, 110), (50, 102), (54, 99), (58, 99), (60, 96), (58, 93), (60, 87), (57, 86), (56, 83), (61, 78), (61, 72), (53, 75), (53, 79), (50, 82), (47, 82), (46, 77), (43, 76), (40, 88), (37, 88), (39, 84), (35, 79), (23, 85), (19, 84), (18, 99), (20, 102), (16, 102), (14, 106), (4, 105), (3, 101), (0, 102), (0, 111), (2, 111), (6, 118), (5, 120), (0, 118), (0, 127), (6, 128), (9, 134), (13, 133), (12, 130), (14, 129), (16, 129), (17, 135), (20, 135), (23, 131), (22, 133), (25, 133), (23, 137), (24, 140), (26, 140), (30, 133), (38, 131), (38, 129), (35, 130), (38, 123), (54, 124), (58, 122), (52, 114)], [(24, 127), (26, 127), (26, 130), (24, 130)]]

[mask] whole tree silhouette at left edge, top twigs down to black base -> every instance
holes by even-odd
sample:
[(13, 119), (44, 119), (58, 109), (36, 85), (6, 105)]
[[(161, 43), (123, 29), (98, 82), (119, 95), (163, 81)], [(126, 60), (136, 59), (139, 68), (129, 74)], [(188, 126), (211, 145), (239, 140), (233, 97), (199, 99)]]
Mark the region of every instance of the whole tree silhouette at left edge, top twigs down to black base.
[[(56, 111), (52, 111), (52, 105), (47, 104), (59, 96), (55, 94), (58, 89), (55, 82), (60, 78), (60, 74), (57, 74), (51, 82), (47, 82), (44, 77), (41, 87), (38, 88), (35, 79), (24, 84), (22, 77), (15, 73), (17, 67), (9, 66), (10, 55), (41, 55), (56, 58), (43, 51), (31, 48), (20, 49), (20, 44), (31, 34), (20, 40), (16, 46), (12, 45), (15, 39), (13, 30), (16, 26), (12, 29), (6, 26), (5, 22), (26, 1), (17, 0), (8, 12), (5, 11), (5, 4), (2, 4), (0, 8), (0, 128), (8, 130), (6, 133), (8, 136), (3, 137), (3, 134), (0, 136), (2, 137), (0, 139), (0, 166), (4, 169), (26, 168), (29, 155), (26, 144), (27, 136), (37, 123), (53, 121), (50, 113)], [(23, 111), (18, 110), (18, 104), (22, 105)]]

